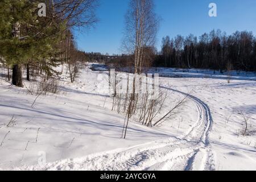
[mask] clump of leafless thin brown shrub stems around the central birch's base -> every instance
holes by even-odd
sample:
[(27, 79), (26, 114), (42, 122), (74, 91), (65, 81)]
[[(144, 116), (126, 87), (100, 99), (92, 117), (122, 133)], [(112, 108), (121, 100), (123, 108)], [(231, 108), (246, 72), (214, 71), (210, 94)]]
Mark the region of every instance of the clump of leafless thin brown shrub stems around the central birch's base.
[[(112, 74), (113, 76), (113, 74)], [(143, 76), (142, 76), (143, 77)], [(122, 111), (123, 114), (125, 114), (125, 121), (123, 123), (123, 131), (122, 131), (122, 138), (126, 137), (127, 132), (127, 126), (129, 123), (129, 120), (131, 117), (135, 119), (135, 121), (141, 122), (142, 125), (146, 125), (148, 127), (153, 126), (152, 123), (154, 123), (154, 126), (159, 126), (163, 122), (165, 122), (167, 119), (175, 117), (175, 115), (178, 113), (181, 106), (183, 106), (187, 102), (187, 97), (189, 96), (189, 93), (179, 102), (176, 103), (170, 111), (168, 111), (165, 115), (162, 116), (162, 109), (164, 102), (167, 98), (167, 92), (158, 92), (158, 96), (155, 97), (155, 89), (156, 85), (159, 86), (155, 79), (153, 79), (153, 82), (148, 82), (148, 80), (145, 81), (145, 79), (142, 79), (142, 77), (139, 77), (139, 81), (136, 81), (136, 84), (129, 85), (129, 83), (135, 82), (134, 79), (129, 79), (129, 75), (127, 78), (127, 90), (126, 93), (119, 93), (119, 86), (117, 86), (117, 83), (119, 83), (115, 75), (115, 80), (111, 80), (113, 78), (109, 77), (109, 84), (110, 86), (113, 86), (114, 94), (113, 94), (113, 106), (112, 110), (117, 110), (118, 113)], [(113, 84), (114, 82), (114, 84)], [(142, 86), (142, 82), (145, 82)], [(111, 85), (113, 84), (113, 85)], [(138, 85), (137, 85), (138, 84)], [(135, 86), (135, 89), (139, 91), (133, 94), (132, 88), (130, 86)], [(146, 88), (144, 86), (146, 85)], [(153, 89), (154, 88), (154, 89)], [(129, 90), (130, 89), (130, 90)], [(146, 92), (144, 92), (146, 89)], [(153, 92), (152, 92), (152, 90)], [(152, 92), (150, 92), (150, 91)], [(122, 90), (125, 91), (125, 90)], [(153, 97), (154, 96), (154, 97)], [(123, 108), (123, 109), (122, 109)]]

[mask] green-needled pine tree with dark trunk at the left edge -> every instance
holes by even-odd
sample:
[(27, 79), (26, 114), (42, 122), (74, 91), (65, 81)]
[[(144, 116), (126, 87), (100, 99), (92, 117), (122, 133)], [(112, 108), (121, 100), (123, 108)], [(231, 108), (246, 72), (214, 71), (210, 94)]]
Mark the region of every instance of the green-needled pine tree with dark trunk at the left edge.
[[(0, 55), (13, 67), (13, 85), (22, 85), (22, 65), (44, 61), (44, 69), (57, 61), (56, 44), (60, 42), (65, 22), (50, 15), (38, 16), (38, 1), (3, 0), (0, 2)], [(36, 59), (35, 59), (36, 57)], [(33, 60), (35, 59), (35, 60)]]

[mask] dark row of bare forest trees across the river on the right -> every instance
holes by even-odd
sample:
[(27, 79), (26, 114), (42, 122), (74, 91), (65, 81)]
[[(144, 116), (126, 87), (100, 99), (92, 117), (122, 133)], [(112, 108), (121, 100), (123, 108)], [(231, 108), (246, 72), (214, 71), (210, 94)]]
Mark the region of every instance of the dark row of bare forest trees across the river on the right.
[(162, 40), (162, 51), (155, 60), (156, 66), (203, 68), (225, 71), (233, 69), (256, 71), (256, 38), (252, 32), (235, 32), (226, 35), (221, 30), (199, 37), (177, 35)]

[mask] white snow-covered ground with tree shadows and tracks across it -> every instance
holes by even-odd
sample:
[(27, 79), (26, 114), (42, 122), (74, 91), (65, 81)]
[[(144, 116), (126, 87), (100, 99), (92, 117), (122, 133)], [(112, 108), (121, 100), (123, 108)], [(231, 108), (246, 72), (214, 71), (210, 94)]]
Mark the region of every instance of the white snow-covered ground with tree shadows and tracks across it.
[(36, 96), (0, 79), (0, 169), (256, 170), (255, 74), (234, 73), (228, 84), (220, 73), (155, 72), (164, 74), (166, 110), (193, 90), (189, 102), (160, 127), (131, 122), (127, 139), (125, 117), (101, 92), (102, 72), (85, 67), (73, 84), (63, 75), (61, 93), (39, 96), (33, 107)]

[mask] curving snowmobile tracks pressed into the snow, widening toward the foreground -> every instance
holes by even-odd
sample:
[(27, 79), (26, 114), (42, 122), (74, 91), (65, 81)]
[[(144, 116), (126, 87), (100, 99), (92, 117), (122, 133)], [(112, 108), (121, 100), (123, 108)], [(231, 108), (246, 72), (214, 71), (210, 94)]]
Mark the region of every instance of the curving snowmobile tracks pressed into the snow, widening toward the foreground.
[(179, 90), (162, 89), (188, 95), (195, 102), (198, 120), (182, 138), (169, 138), (139, 146), (101, 152), (79, 159), (61, 160), (46, 166), (22, 167), (26, 170), (214, 170), (214, 157), (209, 142), (213, 119), (207, 104)]

